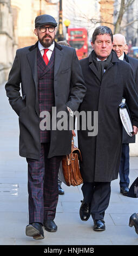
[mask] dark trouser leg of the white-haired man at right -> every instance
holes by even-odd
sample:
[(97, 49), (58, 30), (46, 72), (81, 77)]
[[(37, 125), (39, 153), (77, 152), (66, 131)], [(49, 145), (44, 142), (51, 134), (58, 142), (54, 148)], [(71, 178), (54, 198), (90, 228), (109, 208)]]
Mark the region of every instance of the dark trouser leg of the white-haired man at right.
[(121, 162), (119, 167), (120, 187), (129, 186), (129, 144), (122, 144)]

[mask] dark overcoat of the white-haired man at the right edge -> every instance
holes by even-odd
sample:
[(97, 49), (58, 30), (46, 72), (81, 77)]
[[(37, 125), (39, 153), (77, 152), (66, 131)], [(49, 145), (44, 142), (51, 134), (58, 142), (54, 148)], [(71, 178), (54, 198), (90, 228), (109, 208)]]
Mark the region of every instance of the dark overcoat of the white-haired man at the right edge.
[[(134, 80), (135, 80), (134, 86), (136, 86), (136, 92), (138, 93), (138, 59), (129, 57), (124, 53), (123, 60), (128, 62), (133, 69)], [(135, 136), (130, 137), (127, 134), (127, 132), (124, 130), (124, 128), (123, 128), (123, 133), (122, 133), (122, 143), (135, 143)]]

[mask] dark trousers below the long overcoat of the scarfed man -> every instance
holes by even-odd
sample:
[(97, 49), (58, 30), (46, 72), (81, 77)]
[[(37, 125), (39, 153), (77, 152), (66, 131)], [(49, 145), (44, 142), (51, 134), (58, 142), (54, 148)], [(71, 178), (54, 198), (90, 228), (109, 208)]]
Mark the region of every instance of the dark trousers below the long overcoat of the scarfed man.
[(110, 200), (110, 182), (84, 182), (82, 193), (84, 202), (91, 204), (90, 212), (93, 220), (104, 218)]

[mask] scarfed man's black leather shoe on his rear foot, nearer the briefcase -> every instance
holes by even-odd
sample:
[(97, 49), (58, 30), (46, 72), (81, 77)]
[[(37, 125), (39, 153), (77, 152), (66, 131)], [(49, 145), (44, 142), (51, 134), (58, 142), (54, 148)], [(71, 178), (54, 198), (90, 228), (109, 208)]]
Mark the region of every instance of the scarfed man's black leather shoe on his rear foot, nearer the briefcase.
[(80, 218), (82, 221), (88, 221), (90, 217), (90, 204), (84, 203), (84, 200), (81, 200), (81, 203)]

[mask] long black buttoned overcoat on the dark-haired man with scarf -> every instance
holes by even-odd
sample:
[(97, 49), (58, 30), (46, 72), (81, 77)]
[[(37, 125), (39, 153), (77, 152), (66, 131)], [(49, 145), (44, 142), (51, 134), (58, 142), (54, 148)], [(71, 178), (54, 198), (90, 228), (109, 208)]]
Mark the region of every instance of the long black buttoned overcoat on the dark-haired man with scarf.
[(127, 62), (119, 60), (114, 51), (102, 82), (91, 54), (80, 63), (87, 87), (80, 111), (92, 111), (92, 120), (93, 111), (98, 111), (97, 136), (89, 137), (88, 129), (78, 130), (83, 181), (110, 182), (117, 179), (120, 165), (122, 123), (118, 107), (122, 97), (127, 100), (133, 125), (138, 126), (138, 97), (133, 70)]

